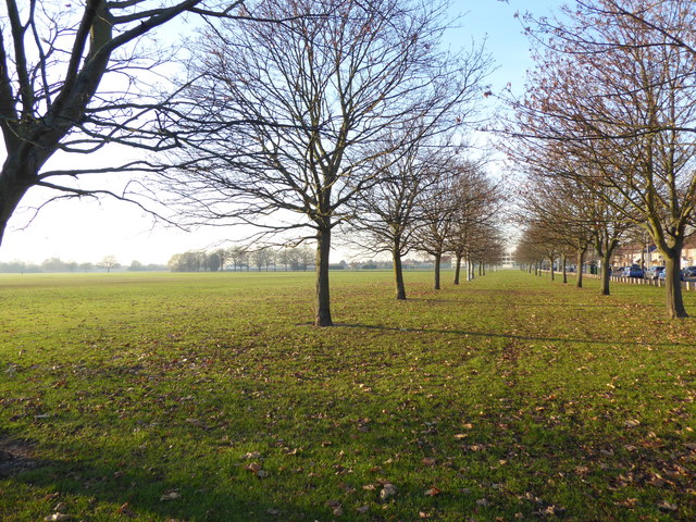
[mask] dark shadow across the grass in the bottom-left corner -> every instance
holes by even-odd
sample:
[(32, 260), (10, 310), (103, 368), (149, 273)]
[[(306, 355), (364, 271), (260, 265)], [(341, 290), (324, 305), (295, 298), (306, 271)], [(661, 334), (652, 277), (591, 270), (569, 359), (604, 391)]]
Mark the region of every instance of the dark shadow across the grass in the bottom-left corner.
[[(42, 517), (47, 520), (53, 514), (57, 502), (65, 504), (62, 512), (70, 515), (70, 520), (252, 522), (326, 517), (326, 511), (319, 507), (307, 510), (293, 505), (279, 506), (272, 502), (270, 496), (241, 492), (243, 486), (237, 486), (236, 492), (222, 490), (215, 487), (212, 476), (189, 484), (158, 476), (142, 469), (140, 462), (124, 463), (117, 455), (102, 455), (102, 458), (91, 460), (69, 456), (41, 459), (36, 457), (40, 453), (36, 443), (7, 436), (0, 442), (0, 447), (13, 451), (3, 450), (7, 451), (5, 459), (13, 465), (4, 465), (0, 460), (0, 481), (9, 481), (23, 492), (40, 488), (37, 495), (29, 493), (25, 497), (33, 500), (44, 498), (46, 512)], [(86, 452), (89, 451), (86, 448)], [(260, 478), (249, 473), (249, 480)], [(48, 495), (47, 490), (50, 492)], [(25, 511), (23, 506), (14, 506), (14, 509)], [(0, 519), (2, 517), (0, 506)]]

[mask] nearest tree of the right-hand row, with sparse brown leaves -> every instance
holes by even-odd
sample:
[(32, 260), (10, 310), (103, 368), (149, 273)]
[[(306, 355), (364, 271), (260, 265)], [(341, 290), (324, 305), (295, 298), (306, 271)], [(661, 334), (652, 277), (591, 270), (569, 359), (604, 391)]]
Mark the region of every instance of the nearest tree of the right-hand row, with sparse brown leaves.
[(546, 50), (519, 105), (521, 134), (592, 165), (573, 177), (649, 233), (666, 259), (668, 315), (686, 316), (680, 263), (696, 209), (696, 4), (583, 0), (564, 15), (530, 24)]

